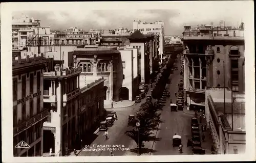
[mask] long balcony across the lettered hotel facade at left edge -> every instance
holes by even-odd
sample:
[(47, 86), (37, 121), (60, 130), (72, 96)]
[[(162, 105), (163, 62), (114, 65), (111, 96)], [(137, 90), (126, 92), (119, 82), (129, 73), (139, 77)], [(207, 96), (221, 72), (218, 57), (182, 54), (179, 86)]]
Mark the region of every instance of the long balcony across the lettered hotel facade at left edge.
[(28, 129), (29, 127), (33, 126), (35, 123), (45, 119), (48, 116), (48, 110), (45, 109), (41, 113), (38, 113), (34, 117), (31, 117), (30, 119), (26, 120), (25, 122), (18, 123), (17, 126), (13, 127), (13, 135), (17, 135), (18, 133)]

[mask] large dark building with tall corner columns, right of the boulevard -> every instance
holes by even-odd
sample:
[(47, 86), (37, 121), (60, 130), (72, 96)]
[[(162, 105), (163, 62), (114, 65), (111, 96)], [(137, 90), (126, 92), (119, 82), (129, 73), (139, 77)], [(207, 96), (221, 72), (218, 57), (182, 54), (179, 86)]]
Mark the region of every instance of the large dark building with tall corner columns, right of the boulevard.
[[(194, 33), (184, 26), (184, 89), (188, 108), (204, 109), (206, 87), (230, 87), (244, 93), (244, 37), (214, 36), (211, 26)], [(194, 106), (193, 106), (194, 105)]]

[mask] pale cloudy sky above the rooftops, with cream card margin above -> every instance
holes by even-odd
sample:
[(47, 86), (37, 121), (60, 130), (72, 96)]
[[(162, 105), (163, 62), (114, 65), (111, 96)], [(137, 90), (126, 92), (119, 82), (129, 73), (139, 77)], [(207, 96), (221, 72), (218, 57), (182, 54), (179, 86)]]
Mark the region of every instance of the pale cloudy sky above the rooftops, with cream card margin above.
[(250, 5), (248, 1), (30, 3), (17, 5), (12, 15), (40, 19), (41, 26), (54, 30), (71, 26), (83, 30), (132, 29), (134, 20), (163, 21), (165, 35), (182, 35), (184, 24), (196, 26), (212, 21), (218, 25), (224, 20), (225, 25), (238, 26), (248, 17)]

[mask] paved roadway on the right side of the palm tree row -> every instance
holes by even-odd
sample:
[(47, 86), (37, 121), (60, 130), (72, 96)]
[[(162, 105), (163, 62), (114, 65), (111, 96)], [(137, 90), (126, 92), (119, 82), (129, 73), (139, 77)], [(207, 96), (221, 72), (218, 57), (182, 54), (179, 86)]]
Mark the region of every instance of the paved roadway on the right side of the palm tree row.
[(190, 138), (190, 120), (193, 115), (185, 114), (182, 111), (170, 112), (170, 99), (173, 103), (176, 103), (176, 97), (174, 92), (178, 93), (178, 83), (180, 80), (180, 62), (177, 61), (178, 71), (174, 71), (174, 74), (170, 75), (172, 82), (168, 85), (170, 91), (170, 97), (167, 98), (165, 106), (161, 114), (161, 119), (164, 121), (160, 123), (157, 132), (157, 138), (161, 138), (154, 144), (153, 152), (151, 155), (177, 155), (180, 154), (178, 147), (173, 147), (173, 135), (178, 133), (182, 137), (183, 153), (193, 154), (190, 147), (186, 147), (187, 139)]

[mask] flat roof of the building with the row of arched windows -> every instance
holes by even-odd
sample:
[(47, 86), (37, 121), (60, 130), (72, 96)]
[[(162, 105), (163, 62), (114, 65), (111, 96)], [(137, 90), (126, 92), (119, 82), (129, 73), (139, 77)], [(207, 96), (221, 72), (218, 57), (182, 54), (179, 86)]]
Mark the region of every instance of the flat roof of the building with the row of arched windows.
[(116, 49), (112, 48), (76, 48), (73, 54), (76, 55), (104, 55), (104, 54), (120, 54)]

